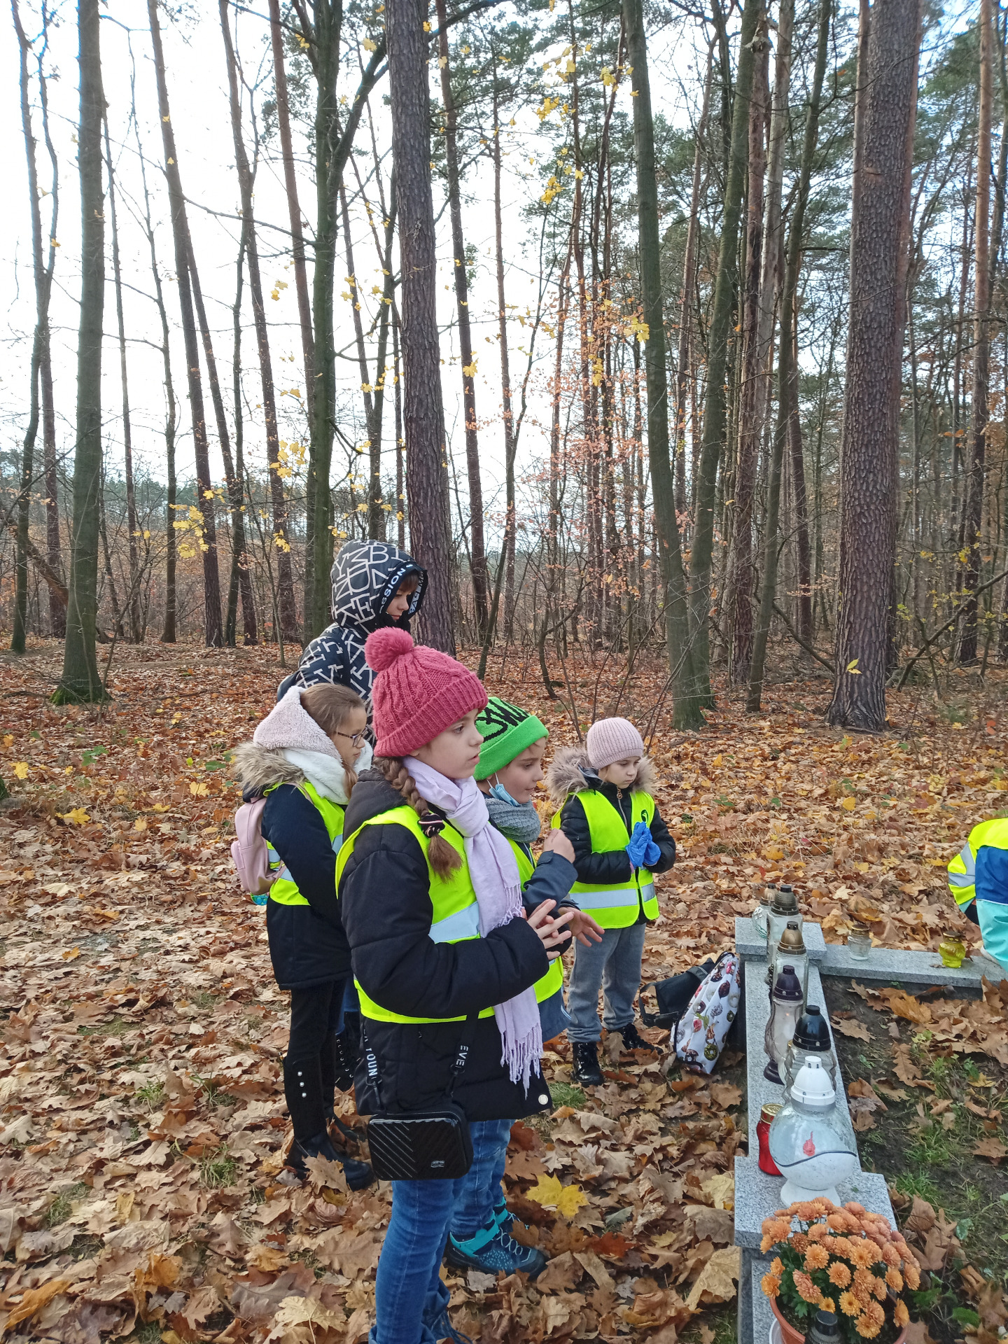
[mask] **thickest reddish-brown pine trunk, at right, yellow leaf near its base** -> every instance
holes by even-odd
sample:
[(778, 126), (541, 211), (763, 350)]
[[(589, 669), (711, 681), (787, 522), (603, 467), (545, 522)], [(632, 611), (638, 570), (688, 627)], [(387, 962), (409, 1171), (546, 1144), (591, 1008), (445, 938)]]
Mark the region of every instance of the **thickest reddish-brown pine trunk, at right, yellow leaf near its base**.
[(840, 442), (836, 681), (828, 720), (886, 726), (895, 543), (899, 383), (910, 169), (921, 48), (919, 0), (875, 0), (857, 67), (860, 125), (851, 220), (851, 301)]

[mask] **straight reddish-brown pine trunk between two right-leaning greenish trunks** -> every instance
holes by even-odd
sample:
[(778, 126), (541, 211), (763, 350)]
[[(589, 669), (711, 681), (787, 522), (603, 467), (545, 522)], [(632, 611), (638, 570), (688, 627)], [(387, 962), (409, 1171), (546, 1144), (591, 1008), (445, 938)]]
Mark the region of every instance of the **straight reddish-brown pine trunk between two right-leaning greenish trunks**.
[(746, 261), (742, 284), (742, 370), (738, 413), (738, 466), (734, 488), (734, 526), (731, 530), (728, 582), (728, 679), (735, 685), (749, 681), (753, 661), (753, 499), (763, 434), (761, 403), (763, 402), (763, 359), (761, 348), (762, 290), (761, 262), (763, 255), (763, 152), (766, 118), (769, 112), (770, 43), (766, 38), (766, 19), (753, 39), (755, 63), (753, 70), (753, 97), (749, 102), (749, 191), (746, 203)]

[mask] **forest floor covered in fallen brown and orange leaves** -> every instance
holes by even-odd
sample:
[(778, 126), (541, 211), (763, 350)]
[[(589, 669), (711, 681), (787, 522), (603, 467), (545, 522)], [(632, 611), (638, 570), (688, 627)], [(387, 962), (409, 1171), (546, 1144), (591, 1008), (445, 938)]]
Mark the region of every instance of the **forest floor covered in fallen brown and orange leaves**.
[[(284, 1179), (288, 1003), (228, 853), (228, 751), (273, 703), (276, 650), (117, 648), (101, 711), (47, 703), (60, 657), (46, 642), (0, 663), (0, 1333), (360, 1344), (388, 1189)], [(976, 941), (945, 866), (1008, 806), (1003, 681), (964, 675), (943, 702), (911, 687), (891, 731), (859, 738), (825, 727), (825, 680), (793, 680), (763, 715), (724, 704), (683, 738), (657, 665), (554, 671), (566, 699), (513, 650), (487, 680), (554, 746), (593, 707), (655, 726), (680, 856), (648, 980), (730, 946), (766, 880), (792, 882), (832, 941), (855, 909), (887, 946)], [(1008, 985), (972, 1003), (833, 985), (863, 1160), (931, 1271), (911, 1344), (992, 1344)], [(607, 1066), (585, 1095), (566, 1047), (550, 1052), (556, 1109), (515, 1128), (509, 1204), (552, 1259), (535, 1285), (449, 1278), (457, 1328), (482, 1344), (734, 1336), (732, 1161), (757, 1118), (741, 1054), (710, 1079), (665, 1073), (660, 1052)]]

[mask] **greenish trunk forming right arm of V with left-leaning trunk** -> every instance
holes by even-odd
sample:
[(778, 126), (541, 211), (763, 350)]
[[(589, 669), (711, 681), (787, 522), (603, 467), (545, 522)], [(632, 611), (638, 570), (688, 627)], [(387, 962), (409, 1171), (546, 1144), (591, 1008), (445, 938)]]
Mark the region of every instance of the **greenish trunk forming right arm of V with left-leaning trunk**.
[(731, 117), (731, 151), (724, 179), (718, 274), (714, 308), (707, 332), (707, 398), (703, 414), (703, 449), (696, 481), (696, 517), (689, 559), (689, 614), (694, 641), (694, 671), (700, 703), (714, 703), (711, 695), (711, 655), (708, 612), (711, 605), (711, 562), (714, 558), (714, 505), (718, 462), (726, 429), (724, 383), (727, 372), (731, 310), (737, 284), (737, 250), (742, 195), (746, 184), (749, 105), (753, 91), (755, 54), (753, 39), (763, 15), (763, 0), (745, 0), (739, 34), (735, 103)]

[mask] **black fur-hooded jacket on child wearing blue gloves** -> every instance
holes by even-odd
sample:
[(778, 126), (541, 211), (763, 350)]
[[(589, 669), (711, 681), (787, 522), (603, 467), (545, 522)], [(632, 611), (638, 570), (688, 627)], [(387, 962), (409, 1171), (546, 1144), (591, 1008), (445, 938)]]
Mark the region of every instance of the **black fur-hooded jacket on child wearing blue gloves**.
[[(640, 816), (633, 816), (630, 797), (633, 789), (644, 793), (655, 792), (655, 769), (646, 757), (641, 757), (637, 778), (630, 789), (617, 789), (614, 784), (605, 784), (587, 762), (587, 753), (583, 747), (564, 747), (556, 753), (547, 775), (547, 788), (551, 801), (562, 808), (560, 825), (563, 832), (574, 845), (574, 867), (578, 870), (578, 882), (617, 883), (633, 880), (633, 866), (625, 849), (606, 849), (594, 853), (591, 849), (591, 831), (587, 816), (578, 793), (593, 789), (607, 798), (626, 827), (626, 843), (634, 825), (641, 821)], [(650, 867), (649, 872), (668, 872), (676, 862), (676, 843), (668, 832), (657, 806), (650, 818), (650, 837), (661, 851), (659, 862)], [(574, 892), (577, 899), (577, 892)], [(637, 923), (644, 922), (644, 910), (637, 914)]]

